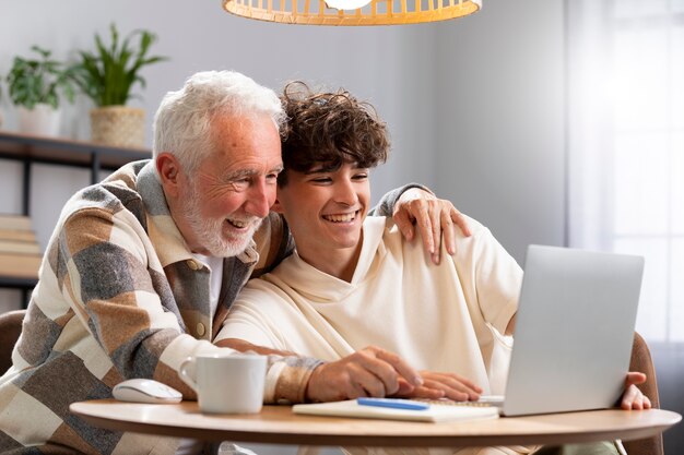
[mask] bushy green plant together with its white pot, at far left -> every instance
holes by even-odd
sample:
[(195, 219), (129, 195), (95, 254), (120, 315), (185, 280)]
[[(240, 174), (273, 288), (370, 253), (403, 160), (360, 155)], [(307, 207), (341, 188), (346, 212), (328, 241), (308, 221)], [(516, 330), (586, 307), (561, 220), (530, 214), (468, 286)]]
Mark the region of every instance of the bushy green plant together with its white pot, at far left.
[(19, 109), (19, 130), (30, 134), (57, 135), (59, 104), (63, 95), (73, 103), (71, 69), (50, 58), (51, 51), (38, 46), (35, 59), (14, 57), (7, 76), (10, 98)]

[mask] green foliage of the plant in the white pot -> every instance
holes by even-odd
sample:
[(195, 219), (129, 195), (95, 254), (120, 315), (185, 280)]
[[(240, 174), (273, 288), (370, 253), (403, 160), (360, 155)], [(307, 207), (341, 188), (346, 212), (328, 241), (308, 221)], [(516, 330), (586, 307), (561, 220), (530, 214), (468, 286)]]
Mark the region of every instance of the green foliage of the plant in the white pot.
[(57, 109), (60, 93), (73, 103), (74, 87), (72, 72), (66, 63), (51, 59), (49, 50), (38, 46), (31, 48), (39, 58), (25, 59), (14, 57), (7, 76), (10, 98), (16, 106), (33, 109), (38, 104), (46, 104)]

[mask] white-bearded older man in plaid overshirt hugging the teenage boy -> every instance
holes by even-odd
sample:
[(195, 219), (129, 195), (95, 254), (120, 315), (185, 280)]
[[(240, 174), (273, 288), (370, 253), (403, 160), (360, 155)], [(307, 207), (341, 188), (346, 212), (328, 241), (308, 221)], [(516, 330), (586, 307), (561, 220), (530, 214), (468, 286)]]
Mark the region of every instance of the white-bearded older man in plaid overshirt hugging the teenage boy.
[[(66, 204), (13, 367), (0, 379), (3, 453), (178, 450), (177, 440), (93, 428), (70, 415), (69, 404), (110, 397), (130, 378), (194, 398), (178, 379), (180, 362), (226, 349), (212, 342), (235, 296), (292, 251), (286, 225), (269, 215), (283, 119), (278, 96), (249, 77), (194, 74), (161, 104), (153, 159), (122, 167)], [(382, 201), (381, 213), (399, 193)], [(426, 226), (431, 217), (447, 226), (458, 219), (448, 203), (406, 205), (427, 215)], [(420, 215), (399, 213), (404, 223)], [(269, 362), (268, 402), (303, 400), (319, 362)]]

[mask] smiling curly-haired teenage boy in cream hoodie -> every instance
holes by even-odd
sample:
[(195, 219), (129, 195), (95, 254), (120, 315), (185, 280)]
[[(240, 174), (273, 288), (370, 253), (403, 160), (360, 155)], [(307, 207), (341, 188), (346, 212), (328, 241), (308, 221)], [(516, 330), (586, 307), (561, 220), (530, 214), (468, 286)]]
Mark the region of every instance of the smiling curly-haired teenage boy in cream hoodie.
[[(472, 236), (458, 236), (455, 254), (439, 265), (426, 261), (391, 219), (366, 217), (370, 168), (388, 153), (385, 124), (372, 107), (346, 92), (311, 94), (296, 84), (284, 99), (290, 132), (273, 208), (284, 214), (296, 253), (245, 287), (217, 343), (325, 360), (309, 381), (311, 400), (502, 394), (509, 352), (503, 334), (512, 334), (522, 279), (516, 261), (472, 219)], [(394, 373), (398, 356), (421, 371), (422, 381), (406, 384)], [(625, 408), (650, 406), (633, 385), (644, 380), (628, 374)], [(517, 455), (538, 448), (435, 453)], [(616, 453), (612, 443), (585, 450)]]

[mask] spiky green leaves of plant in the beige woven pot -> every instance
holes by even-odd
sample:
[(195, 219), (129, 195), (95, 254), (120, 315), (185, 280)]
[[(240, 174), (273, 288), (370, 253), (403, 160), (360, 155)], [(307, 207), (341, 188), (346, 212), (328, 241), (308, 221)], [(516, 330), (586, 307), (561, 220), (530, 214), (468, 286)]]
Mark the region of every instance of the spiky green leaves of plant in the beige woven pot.
[[(167, 60), (166, 57), (148, 57), (150, 46), (156, 40), (151, 32), (133, 31), (122, 40), (114, 24), (109, 26), (111, 43), (106, 47), (95, 34), (95, 52), (79, 51), (80, 62), (73, 68), (79, 87), (96, 106), (126, 105), (135, 83), (144, 88), (140, 70), (149, 64)], [(137, 43), (132, 43), (137, 39)]]

